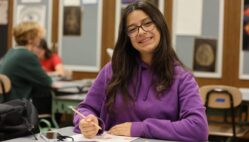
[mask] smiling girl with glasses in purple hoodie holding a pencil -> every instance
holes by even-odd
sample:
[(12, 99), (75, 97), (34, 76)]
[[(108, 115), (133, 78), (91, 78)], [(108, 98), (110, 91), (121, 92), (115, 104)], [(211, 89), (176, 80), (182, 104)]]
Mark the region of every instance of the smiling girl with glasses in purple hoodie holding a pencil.
[(146, 1), (124, 9), (112, 60), (77, 110), (86, 118), (74, 115), (74, 131), (87, 138), (106, 130), (119, 136), (208, 140), (198, 84), (172, 48), (164, 16)]

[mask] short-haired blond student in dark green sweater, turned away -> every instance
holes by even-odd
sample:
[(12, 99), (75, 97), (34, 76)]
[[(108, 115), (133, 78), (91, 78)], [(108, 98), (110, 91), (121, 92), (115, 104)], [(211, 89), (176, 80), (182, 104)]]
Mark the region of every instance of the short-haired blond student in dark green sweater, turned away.
[(52, 83), (33, 53), (40, 45), (44, 29), (35, 22), (23, 22), (15, 26), (13, 31), (17, 45), (8, 50), (0, 67), (0, 73), (10, 78), (12, 86), (4, 101), (31, 99), (40, 92), (49, 91)]

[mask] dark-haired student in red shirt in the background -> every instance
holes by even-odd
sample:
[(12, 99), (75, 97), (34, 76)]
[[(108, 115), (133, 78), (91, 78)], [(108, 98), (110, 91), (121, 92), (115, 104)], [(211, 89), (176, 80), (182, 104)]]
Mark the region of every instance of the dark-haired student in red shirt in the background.
[(65, 76), (65, 71), (61, 58), (48, 48), (45, 39), (42, 39), (40, 45), (35, 50), (43, 69), (51, 76)]

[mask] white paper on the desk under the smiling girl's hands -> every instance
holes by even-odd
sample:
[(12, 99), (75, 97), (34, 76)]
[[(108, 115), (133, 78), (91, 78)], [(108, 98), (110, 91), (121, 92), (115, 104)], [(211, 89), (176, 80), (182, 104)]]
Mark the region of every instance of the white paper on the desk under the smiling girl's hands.
[(96, 141), (96, 142), (107, 142), (107, 141), (108, 142), (131, 142), (137, 139), (137, 137), (115, 136), (115, 135), (110, 135), (107, 133), (104, 133), (100, 136), (96, 136), (95, 138), (92, 138), (92, 139), (87, 139), (82, 134), (73, 135), (72, 137), (74, 141)]

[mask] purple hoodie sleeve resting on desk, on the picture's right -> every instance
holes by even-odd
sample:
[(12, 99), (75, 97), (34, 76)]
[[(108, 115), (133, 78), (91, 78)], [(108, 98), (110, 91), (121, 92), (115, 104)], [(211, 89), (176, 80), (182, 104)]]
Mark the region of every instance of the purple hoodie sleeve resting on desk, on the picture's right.
[(182, 75), (178, 85), (178, 97), (180, 110), (177, 121), (148, 118), (142, 122), (133, 122), (131, 136), (176, 141), (208, 140), (205, 107), (192, 74)]

